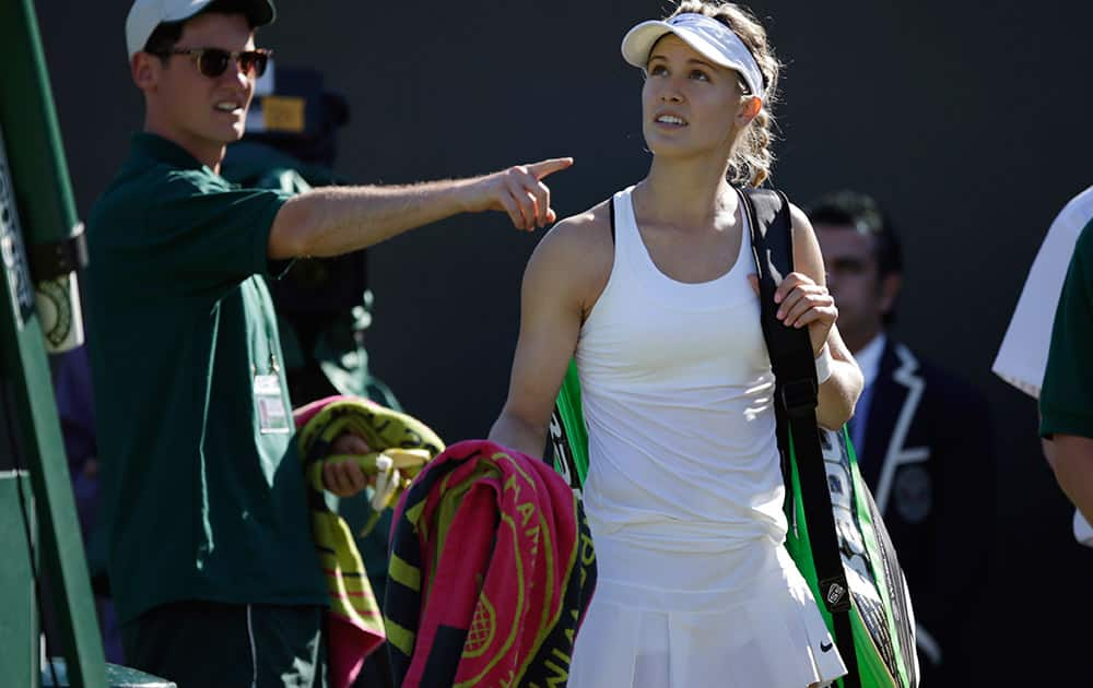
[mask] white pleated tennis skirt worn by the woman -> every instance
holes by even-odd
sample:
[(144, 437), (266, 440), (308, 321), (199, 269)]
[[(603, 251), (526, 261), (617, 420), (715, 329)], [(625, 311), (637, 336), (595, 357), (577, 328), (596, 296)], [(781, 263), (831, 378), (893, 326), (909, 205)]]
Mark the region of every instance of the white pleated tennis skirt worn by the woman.
[(592, 534), (596, 591), (571, 688), (807, 688), (846, 674), (808, 583), (769, 538), (666, 551)]

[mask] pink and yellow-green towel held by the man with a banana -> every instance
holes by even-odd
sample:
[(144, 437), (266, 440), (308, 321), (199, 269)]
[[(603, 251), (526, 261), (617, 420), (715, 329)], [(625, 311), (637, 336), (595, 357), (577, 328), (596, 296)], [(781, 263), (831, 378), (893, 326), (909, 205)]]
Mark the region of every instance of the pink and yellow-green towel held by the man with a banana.
[[(353, 534), (324, 499), (322, 464), (346, 459), (330, 455), (331, 443), (343, 432), (361, 436), (376, 450), (353, 458), (366, 473), (376, 471), (377, 456), (383, 451), (424, 450), (432, 458), (444, 450), (444, 442), (412, 416), (365, 399), (330, 396), (298, 408), (293, 416), (310, 487), (312, 536), (330, 594), (329, 681), (331, 688), (348, 688), (356, 679), (365, 657), (384, 642), (384, 622)], [(396, 496), (409, 486), (420, 468), (420, 465), (402, 468), (404, 483), (398, 486)]]

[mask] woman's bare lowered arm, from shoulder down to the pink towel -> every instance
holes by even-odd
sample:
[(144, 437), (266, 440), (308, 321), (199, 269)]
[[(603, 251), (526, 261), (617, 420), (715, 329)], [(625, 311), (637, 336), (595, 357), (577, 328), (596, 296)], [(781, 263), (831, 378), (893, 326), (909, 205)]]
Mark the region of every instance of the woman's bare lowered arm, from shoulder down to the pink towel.
[(543, 454), (580, 325), (610, 274), (611, 245), (599, 226), (600, 214), (597, 210), (559, 223), (536, 247), (524, 273), (508, 399), (490, 439), (530, 456)]

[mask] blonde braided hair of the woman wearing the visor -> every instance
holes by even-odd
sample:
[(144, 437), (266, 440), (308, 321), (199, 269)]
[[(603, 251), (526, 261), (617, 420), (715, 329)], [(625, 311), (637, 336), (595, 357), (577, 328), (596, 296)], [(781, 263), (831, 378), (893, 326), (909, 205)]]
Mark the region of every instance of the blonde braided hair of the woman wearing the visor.
[(669, 16), (690, 12), (704, 14), (715, 19), (740, 37), (751, 51), (752, 57), (763, 72), (763, 83), (766, 95), (763, 108), (755, 119), (740, 133), (729, 158), (729, 181), (738, 185), (757, 187), (771, 178), (774, 167), (774, 104), (778, 98), (778, 73), (781, 62), (774, 54), (774, 48), (767, 43), (766, 29), (760, 24), (751, 10), (732, 2), (714, 0), (683, 0)]

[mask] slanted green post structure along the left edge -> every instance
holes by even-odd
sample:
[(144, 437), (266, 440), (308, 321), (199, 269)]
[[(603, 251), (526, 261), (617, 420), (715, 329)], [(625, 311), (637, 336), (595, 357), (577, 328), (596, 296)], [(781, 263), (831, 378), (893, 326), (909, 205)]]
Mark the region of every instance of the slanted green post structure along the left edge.
[[(61, 293), (69, 299), (75, 294), (74, 275), (37, 274), (37, 262), (32, 274), (27, 261), (27, 249), (46, 247), (59, 254), (68, 246), (66, 240), (81, 232), (31, 0), (0, 2), (0, 63), (4, 66), (0, 76), (0, 249), (4, 268), (0, 280), (0, 406), (13, 420), (15, 451), (31, 475), (42, 561), (54, 594), (68, 678), (75, 687), (105, 688), (106, 663), (43, 325), (44, 318), (51, 320), (51, 336), (58, 323), (68, 329), (64, 336), (50, 342), (51, 351), (82, 341), (78, 299), (69, 304), (67, 321), (66, 313), (50, 310), (58, 308), (54, 298), (66, 298)], [(59, 258), (54, 262), (63, 264), (63, 257)], [(36, 305), (31, 278), (38, 283), (39, 292), (46, 283), (63, 285), (54, 295), (39, 294)]]

